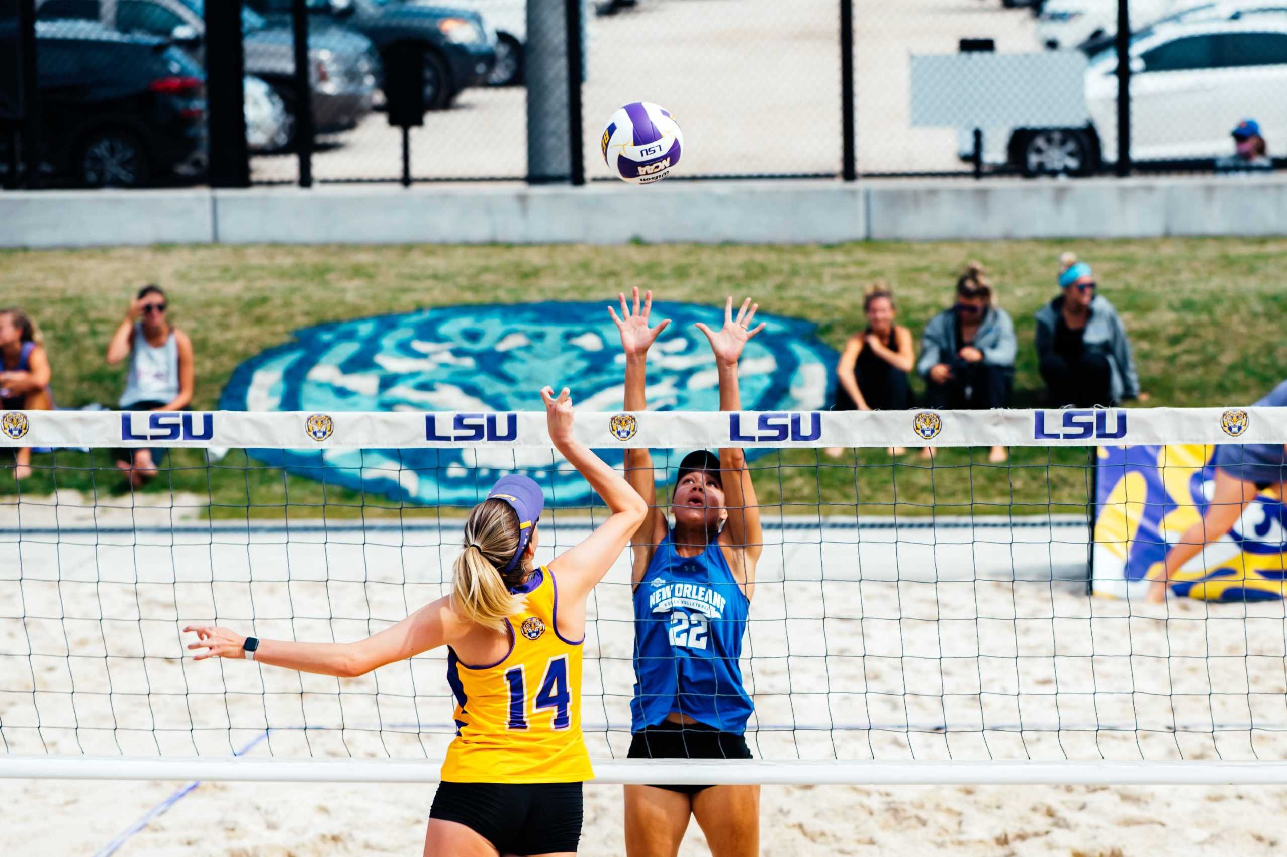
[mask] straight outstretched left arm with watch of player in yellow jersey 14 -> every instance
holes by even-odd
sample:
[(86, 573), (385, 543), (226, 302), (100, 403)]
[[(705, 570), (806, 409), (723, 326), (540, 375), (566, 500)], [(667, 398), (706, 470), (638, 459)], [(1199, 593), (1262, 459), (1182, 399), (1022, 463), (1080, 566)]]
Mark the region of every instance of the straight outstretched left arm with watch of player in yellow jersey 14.
[[(288, 640), (260, 640), (255, 660), (273, 667), (304, 673), (363, 676), (377, 667), (404, 660), (422, 651), (454, 642), (468, 631), (468, 623), (457, 616), (450, 598), (439, 598), (411, 614), (396, 625), (351, 643), (305, 643)], [(199, 650), (194, 660), (206, 658), (245, 658), (246, 637), (228, 628), (188, 625), (183, 633), (196, 633), (197, 642), (188, 649)]]

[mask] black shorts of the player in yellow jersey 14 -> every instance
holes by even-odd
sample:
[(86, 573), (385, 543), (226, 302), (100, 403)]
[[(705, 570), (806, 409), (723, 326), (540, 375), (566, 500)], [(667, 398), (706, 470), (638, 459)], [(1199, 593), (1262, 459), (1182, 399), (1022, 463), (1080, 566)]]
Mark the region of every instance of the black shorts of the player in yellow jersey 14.
[(577, 851), (579, 782), (441, 782), (430, 818), (465, 825), (502, 854)]

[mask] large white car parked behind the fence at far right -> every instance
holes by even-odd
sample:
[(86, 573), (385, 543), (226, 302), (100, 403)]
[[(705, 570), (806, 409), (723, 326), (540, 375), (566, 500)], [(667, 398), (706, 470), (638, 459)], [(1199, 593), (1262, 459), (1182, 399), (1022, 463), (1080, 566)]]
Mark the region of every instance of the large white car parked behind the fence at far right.
[[(1287, 21), (1162, 24), (1135, 37), (1131, 158), (1201, 162), (1229, 152), (1229, 129), (1255, 116), (1272, 157), (1287, 157)], [(990, 163), (1027, 175), (1086, 175), (1117, 160), (1117, 55), (1086, 68), (1085, 127), (1004, 129), (985, 144)], [(1275, 133), (1278, 129), (1278, 133)]]

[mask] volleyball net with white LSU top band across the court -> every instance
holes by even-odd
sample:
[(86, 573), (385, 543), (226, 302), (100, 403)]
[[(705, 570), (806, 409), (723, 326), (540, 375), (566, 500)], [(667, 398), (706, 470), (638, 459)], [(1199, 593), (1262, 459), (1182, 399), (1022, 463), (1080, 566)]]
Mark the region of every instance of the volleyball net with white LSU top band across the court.
[[(5, 463), (48, 449), (0, 476), (0, 776), (436, 780), (445, 650), (338, 679), (193, 661), (180, 629), (387, 628), (449, 591), (465, 515), (506, 472), (546, 489), (542, 562), (606, 517), (543, 413), (0, 417)], [(575, 431), (616, 466), (653, 448), (659, 502), (686, 452), (746, 448), (764, 529), (740, 663), (755, 758), (625, 760), (625, 551), (588, 604), (602, 781), (1287, 781), (1279, 498), (1145, 600), (1210, 502), (1215, 445), (1287, 443), (1274, 409), (578, 413)], [(117, 459), (144, 447), (157, 474), (133, 489)]]

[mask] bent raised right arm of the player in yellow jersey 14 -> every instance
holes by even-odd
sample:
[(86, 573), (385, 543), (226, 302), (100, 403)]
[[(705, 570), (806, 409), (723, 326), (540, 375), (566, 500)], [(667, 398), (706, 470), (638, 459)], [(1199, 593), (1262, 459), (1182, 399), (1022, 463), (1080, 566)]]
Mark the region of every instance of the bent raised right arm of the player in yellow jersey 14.
[(573, 436), (573, 410), (568, 387), (562, 389), (557, 399), (553, 398), (553, 390), (544, 387), (541, 398), (546, 403), (550, 440), (553, 441), (555, 449), (562, 453), (564, 458), (589, 483), (611, 512), (606, 521), (595, 528), (589, 538), (564, 551), (550, 564), (550, 570), (559, 580), (560, 592), (571, 602), (566, 613), (560, 611), (560, 618), (570, 619), (573, 614), (584, 610), (589, 591), (604, 579), (607, 569), (625, 549), (627, 540), (647, 513), (647, 504), (620, 474)]

